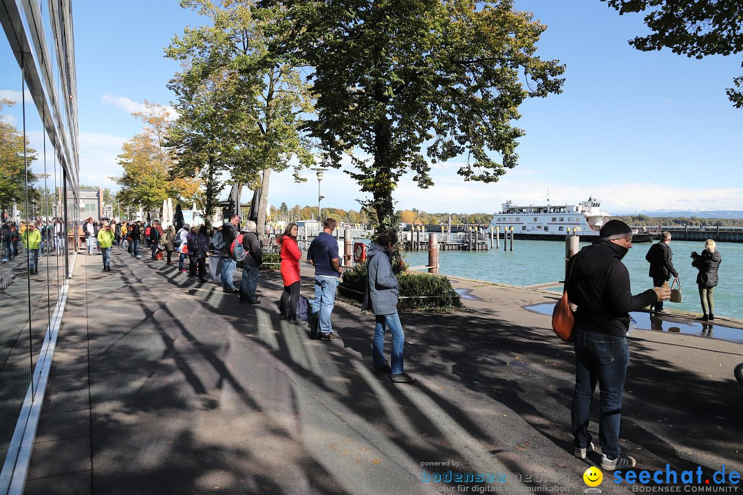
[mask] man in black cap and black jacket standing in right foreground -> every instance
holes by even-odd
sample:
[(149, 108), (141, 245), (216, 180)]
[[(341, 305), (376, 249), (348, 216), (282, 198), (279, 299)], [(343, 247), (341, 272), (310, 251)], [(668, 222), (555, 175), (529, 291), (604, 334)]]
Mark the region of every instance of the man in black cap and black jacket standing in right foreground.
[(599, 239), (585, 246), (568, 266), (568, 298), (577, 304), (573, 330), (575, 390), (572, 429), (574, 453), (585, 459), (594, 449), (588, 433), (588, 416), (596, 382), (601, 391), (599, 442), (601, 468), (628, 469), (635, 459), (621, 452), (619, 427), (622, 390), (629, 364), (627, 330), (629, 312), (657, 301), (666, 301), (670, 289), (654, 287), (632, 295), (629, 272), (622, 258), (632, 248), (632, 229), (621, 220), (609, 220)]

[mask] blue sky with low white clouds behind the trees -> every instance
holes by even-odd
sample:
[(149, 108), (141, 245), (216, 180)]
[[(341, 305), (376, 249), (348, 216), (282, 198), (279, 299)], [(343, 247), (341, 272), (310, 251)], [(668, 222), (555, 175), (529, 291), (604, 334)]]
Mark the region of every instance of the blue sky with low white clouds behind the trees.
[[(172, 99), (165, 84), (178, 65), (163, 47), (201, 19), (172, 0), (75, 0), (73, 8), (81, 182), (115, 188), (106, 177), (120, 175), (116, 155), (141, 127), (130, 113), (145, 99)], [(724, 94), (741, 56), (637, 51), (627, 40), (646, 33), (641, 16), (619, 16), (599, 0), (517, 0), (516, 8), (548, 25), (538, 51), (567, 65), (564, 92), (522, 105), (519, 165), (499, 183), (465, 183), (455, 173), (461, 160), (452, 160), (434, 169), (432, 189), (403, 177), (398, 208), (495, 212), (505, 200), (543, 203), (549, 191), (551, 203), (594, 195), (609, 212), (743, 209), (743, 111)], [(305, 177), (274, 175), (270, 203), (317, 204), (314, 173)], [(325, 174), (322, 194), (324, 206), (345, 209), (361, 197), (341, 171)]]

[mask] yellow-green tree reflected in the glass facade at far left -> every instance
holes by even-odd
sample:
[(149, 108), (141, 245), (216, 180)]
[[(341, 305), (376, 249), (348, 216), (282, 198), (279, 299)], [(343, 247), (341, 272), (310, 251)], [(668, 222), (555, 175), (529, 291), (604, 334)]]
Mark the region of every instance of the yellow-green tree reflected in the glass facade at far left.
[[(10, 99), (0, 99), (0, 112), (7, 106), (15, 105)], [(31, 163), (36, 160), (36, 150), (28, 147), (28, 140), (15, 125), (0, 119), (0, 210), (10, 209), (19, 203), (25, 211), (26, 201), (40, 198), (33, 187), (38, 179), (31, 171)]]

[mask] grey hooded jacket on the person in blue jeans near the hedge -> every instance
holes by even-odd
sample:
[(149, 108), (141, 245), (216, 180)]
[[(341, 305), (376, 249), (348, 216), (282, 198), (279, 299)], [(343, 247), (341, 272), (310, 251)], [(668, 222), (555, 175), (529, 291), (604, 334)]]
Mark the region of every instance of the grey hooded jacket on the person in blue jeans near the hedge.
[(392, 269), (392, 252), (371, 243), (366, 252), (366, 295), (361, 309), (371, 309), (374, 315), (394, 315), (398, 312), (398, 278)]

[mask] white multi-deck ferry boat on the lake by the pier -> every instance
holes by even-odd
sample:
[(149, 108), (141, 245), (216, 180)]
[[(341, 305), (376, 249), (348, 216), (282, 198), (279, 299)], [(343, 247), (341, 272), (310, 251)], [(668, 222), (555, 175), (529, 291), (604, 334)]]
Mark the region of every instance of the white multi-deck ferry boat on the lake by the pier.
[(510, 230), (516, 239), (562, 240), (566, 235), (593, 237), (609, 220), (599, 200), (589, 197), (577, 205), (518, 206), (512, 201), (502, 204), (490, 226), (499, 231)]

